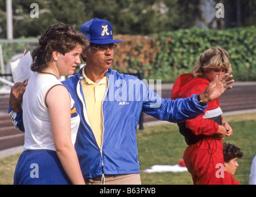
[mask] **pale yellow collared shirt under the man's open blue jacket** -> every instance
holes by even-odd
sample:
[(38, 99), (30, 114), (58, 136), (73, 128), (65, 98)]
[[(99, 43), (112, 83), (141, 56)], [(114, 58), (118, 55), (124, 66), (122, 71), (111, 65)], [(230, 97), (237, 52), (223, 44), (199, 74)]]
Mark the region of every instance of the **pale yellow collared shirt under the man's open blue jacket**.
[(84, 79), (81, 80), (83, 95), (85, 97), (85, 105), (90, 126), (95, 134), (99, 147), (103, 142), (103, 113), (102, 102), (108, 87), (106, 76), (98, 83), (93, 82), (82, 71)]

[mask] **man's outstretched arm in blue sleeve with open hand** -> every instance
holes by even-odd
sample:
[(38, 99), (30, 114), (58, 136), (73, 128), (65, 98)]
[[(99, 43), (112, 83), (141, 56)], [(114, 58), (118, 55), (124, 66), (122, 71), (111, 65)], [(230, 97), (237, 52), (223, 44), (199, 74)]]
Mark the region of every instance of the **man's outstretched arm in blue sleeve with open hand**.
[[(229, 80), (232, 77), (228, 73), (220, 77), (216, 76), (202, 93), (188, 98), (171, 100), (160, 98), (159, 95), (158, 97), (151, 96), (149, 97), (150, 102), (145, 102), (142, 110), (157, 119), (173, 123), (196, 118), (207, 108), (208, 102), (220, 97), (226, 90), (232, 88), (232, 86), (229, 86), (234, 82), (234, 80)], [(153, 95), (153, 93), (151, 92), (150, 95)]]

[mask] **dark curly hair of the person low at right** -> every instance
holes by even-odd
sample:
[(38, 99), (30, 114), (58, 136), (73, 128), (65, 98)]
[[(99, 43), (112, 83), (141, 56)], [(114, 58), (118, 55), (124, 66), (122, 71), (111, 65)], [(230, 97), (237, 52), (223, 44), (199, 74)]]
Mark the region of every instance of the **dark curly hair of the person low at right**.
[(231, 143), (223, 143), (224, 162), (228, 163), (231, 159), (242, 158), (243, 155), (241, 148)]

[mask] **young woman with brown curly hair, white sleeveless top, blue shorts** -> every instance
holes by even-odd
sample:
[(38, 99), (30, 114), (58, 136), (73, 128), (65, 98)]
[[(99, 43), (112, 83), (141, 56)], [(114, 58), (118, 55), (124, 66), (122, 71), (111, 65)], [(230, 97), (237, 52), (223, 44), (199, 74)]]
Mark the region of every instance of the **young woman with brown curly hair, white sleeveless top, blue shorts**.
[(23, 94), (24, 151), (14, 184), (85, 184), (74, 142), (80, 118), (74, 100), (59, 81), (73, 74), (88, 39), (72, 25), (46, 28), (33, 50), (33, 75)]

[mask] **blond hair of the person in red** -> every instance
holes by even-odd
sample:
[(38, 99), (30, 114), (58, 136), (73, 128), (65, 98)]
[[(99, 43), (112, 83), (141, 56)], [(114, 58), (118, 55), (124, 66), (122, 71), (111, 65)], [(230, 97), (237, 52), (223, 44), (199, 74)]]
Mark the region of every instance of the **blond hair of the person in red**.
[(195, 78), (204, 78), (205, 72), (210, 68), (224, 69), (226, 73), (230, 73), (232, 68), (228, 52), (221, 47), (213, 47), (206, 50), (197, 57), (193, 68), (193, 75)]

